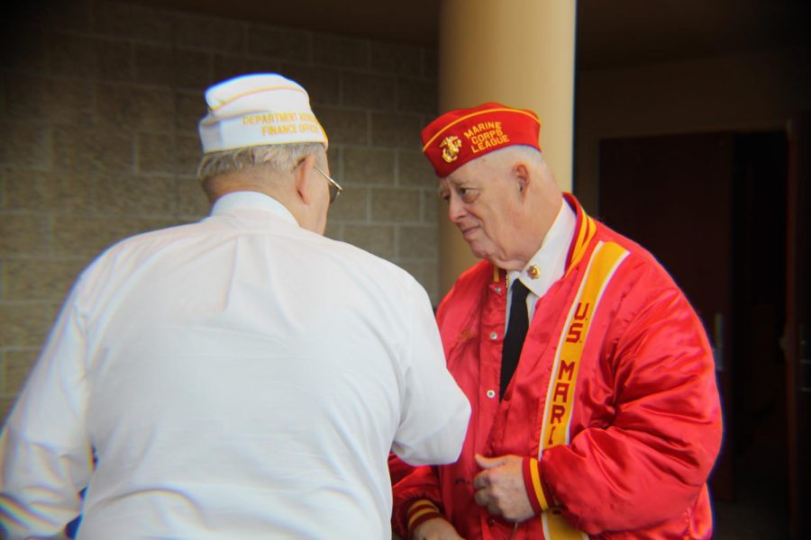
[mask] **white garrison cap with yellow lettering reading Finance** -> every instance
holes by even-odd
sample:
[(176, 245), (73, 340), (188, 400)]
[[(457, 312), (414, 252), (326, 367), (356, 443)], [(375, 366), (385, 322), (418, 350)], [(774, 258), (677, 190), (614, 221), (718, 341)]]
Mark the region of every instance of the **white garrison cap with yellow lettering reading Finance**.
[(327, 137), (310, 109), (306, 90), (284, 76), (237, 76), (205, 91), (208, 113), (200, 121), (203, 152), (321, 142)]

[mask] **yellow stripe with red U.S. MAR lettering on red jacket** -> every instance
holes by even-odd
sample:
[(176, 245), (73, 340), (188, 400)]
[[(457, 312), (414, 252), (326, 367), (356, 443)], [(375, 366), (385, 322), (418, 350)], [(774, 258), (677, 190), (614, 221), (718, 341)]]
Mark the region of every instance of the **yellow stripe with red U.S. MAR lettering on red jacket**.
[[(628, 252), (624, 247), (618, 244), (599, 242), (588, 262), (586, 275), (583, 276), (577, 298), (571, 304), (564, 331), (560, 335), (558, 352), (552, 366), (546, 405), (543, 409), (539, 461), (545, 448), (568, 445), (570, 442), (575, 386), (578, 382), (580, 357), (583, 354), (588, 329), (606, 285), (627, 255)], [(553, 501), (549, 502), (553, 504)], [(588, 540), (585, 533), (571, 527), (557, 510), (548, 509), (542, 513), (541, 518), (543, 536), (549, 540)]]

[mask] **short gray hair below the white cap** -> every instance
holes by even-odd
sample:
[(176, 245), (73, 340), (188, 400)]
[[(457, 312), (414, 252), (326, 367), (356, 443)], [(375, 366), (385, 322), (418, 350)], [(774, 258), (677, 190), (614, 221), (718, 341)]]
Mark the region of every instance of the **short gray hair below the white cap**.
[(315, 156), (320, 160), (324, 151), (320, 142), (296, 142), (212, 152), (200, 160), (197, 178), (207, 183), (217, 176), (260, 166), (275, 172), (291, 171), (304, 157)]

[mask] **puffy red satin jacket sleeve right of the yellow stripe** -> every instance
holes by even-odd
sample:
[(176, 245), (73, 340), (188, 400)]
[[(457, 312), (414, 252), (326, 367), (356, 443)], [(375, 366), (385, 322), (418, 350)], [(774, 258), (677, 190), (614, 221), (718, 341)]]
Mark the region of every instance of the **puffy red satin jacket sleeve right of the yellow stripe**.
[(544, 450), (539, 465), (542, 491), (588, 534), (684, 513), (721, 444), (713, 357), (687, 299), (649, 270), (618, 305), (600, 362), (613, 373), (615, 419)]

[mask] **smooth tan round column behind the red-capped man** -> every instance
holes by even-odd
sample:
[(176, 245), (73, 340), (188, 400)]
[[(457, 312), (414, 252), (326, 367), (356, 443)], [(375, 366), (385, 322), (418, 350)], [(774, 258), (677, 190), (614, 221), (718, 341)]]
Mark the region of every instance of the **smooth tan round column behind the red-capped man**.
[[(442, 0), (440, 112), (495, 101), (541, 117), (541, 148), (571, 191), (575, 0)], [(476, 262), (440, 203), (439, 287)]]

